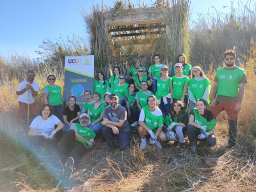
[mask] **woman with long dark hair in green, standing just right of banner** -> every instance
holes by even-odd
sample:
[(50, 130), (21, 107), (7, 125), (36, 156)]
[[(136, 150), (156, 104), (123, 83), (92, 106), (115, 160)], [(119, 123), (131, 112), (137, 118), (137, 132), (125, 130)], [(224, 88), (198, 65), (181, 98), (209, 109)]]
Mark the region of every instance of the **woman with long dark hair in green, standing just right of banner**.
[(97, 80), (95, 80), (93, 82), (93, 90), (94, 90), (94, 93), (95, 92), (100, 93), (101, 102), (104, 102), (105, 99), (104, 99), (103, 95), (104, 95), (104, 93), (109, 92), (109, 82), (106, 81), (104, 72), (102, 72), (102, 71), (98, 72)]

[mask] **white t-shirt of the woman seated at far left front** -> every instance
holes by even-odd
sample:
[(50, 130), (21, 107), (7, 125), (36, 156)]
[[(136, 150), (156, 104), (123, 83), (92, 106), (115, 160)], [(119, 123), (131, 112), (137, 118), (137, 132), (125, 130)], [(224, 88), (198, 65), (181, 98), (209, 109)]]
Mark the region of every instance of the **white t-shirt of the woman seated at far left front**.
[(51, 115), (47, 120), (43, 120), (42, 116), (36, 116), (29, 127), (35, 129), (35, 132), (51, 133), (54, 131), (54, 126), (58, 124), (60, 120), (57, 116)]

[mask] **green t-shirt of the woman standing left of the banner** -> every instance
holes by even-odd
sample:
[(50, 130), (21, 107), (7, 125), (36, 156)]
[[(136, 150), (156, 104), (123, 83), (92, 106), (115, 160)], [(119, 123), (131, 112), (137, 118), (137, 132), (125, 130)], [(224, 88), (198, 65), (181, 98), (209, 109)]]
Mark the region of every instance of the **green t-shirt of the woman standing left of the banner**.
[(42, 88), (42, 92), (44, 93), (44, 89), (49, 91), (49, 103), (51, 106), (60, 106), (63, 104), (61, 100), (61, 87), (56, 85), (56, 87), (51, 87), (49, 84)]

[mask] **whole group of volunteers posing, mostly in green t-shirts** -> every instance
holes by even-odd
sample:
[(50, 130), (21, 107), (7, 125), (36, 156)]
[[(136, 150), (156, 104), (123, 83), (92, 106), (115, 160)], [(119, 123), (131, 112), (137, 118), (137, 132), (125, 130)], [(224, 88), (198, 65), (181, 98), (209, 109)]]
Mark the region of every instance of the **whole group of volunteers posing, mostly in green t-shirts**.
[[(40, 108), (40, 116), (36, 116), (29, 126), (29, 150), (33, 146), (41, 146), (45, 141), (54, 141), (56, 145), (64, 132), (58, 157), (61, 163), (72, 164), (67, 167), (76, 168), (86, 148), (92, 147), (96, 135), (102, 136), (108, 142), (108, 152), (114, 152), (116, 148), (125, 150), (129, 146), (127, 118), (131, 118), (132, 127), (139, 125), (142, 149), (148, 143), (162, 148), (161, 142), (167, 139), (175, 141), (174, 144), (184, 150), (184, 138), (188, 135), (191, 151), (195, 152), (198, 140), (204, 141), (207, 147), (216, 145), (215, 118), (223, 110), (228, 115), (228, 147), (234, 147), (237, 115), (241, 109), (244, 84), (247, 80), (245, 71), (235, 65), (234, 50), (224, 53), (224, 61), (226, 67), (218, 69), (214, 78), (209, 109), (211, 82), (202, 68), (191, 67), (187, 63), (184, 54), (177, 57), (171, 77), (168, 66), (160, 63), (158, 54), (154, 56), (154, 65), (148, 69), (148, 76), (147, 69), (140, 65), (139, 58), (132, 60), (134, 67), (131, 68), (128, 79), (119, 67), (114, 67), (114, 75), (109, 81), (106, 80), (104, 72), (98, 72), (97, 80), (94, 81), (94, 93), (88, 90), (84, 92), (87, 102), (82, 111), (74, 96), (69, 97), (69, 105), (62, 108), (61, 88), (54, 84), (56, 78), (49, 75), (49, 84), (42, 90), (44, 105)], [(33, 97), (39, 91), (34, 78), (35, 73), (29, 70), (26, 81), (20, 83), (17, 90), (17, 95), (20, 95), (20, 115), (24, 119), (28, 118), (26, 91)], [(218, 96), (215, 99), (216, 95)], [(29, 100), (29, 110), (35, 116), (33, 97)], [(54, 112), (58, 118), (53, 115)], [(163, 130), (164, 124), (166, 131)], [(119, 147), (116, 147), (115, 137)]]

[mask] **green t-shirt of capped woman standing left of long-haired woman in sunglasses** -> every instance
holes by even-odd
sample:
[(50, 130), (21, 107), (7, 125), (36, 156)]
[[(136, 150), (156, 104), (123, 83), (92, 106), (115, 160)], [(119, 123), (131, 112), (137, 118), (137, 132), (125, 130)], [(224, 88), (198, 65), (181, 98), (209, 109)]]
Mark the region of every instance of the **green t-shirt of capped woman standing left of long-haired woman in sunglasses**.
[(183, 76), (182, 78), (176, 76), (172, 77), (173, 99), (181, 99), (184, 86), (187, 83), (189, 83), (189, 78), (187, 76)]

